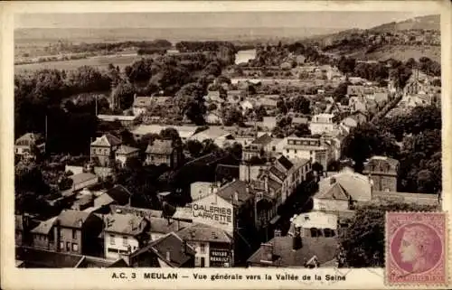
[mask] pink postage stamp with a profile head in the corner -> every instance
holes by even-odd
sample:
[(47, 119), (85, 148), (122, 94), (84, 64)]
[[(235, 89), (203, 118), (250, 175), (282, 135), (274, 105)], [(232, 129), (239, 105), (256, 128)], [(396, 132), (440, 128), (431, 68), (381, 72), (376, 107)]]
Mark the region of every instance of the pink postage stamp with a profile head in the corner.
[(386, 282), (389, 285), (446, 284), (446, 244), (446, 213), (388, 212)]

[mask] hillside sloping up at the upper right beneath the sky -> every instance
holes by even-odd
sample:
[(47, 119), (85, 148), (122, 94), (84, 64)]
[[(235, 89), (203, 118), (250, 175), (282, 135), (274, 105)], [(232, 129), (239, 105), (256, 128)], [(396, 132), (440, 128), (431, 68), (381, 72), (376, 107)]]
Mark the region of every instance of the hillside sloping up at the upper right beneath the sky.
[(426, 56), (440, 61), (439, 15), (384, 23), (371, 29), (351, 29), (310, 38), (328, 54), (351, 56), (358, 60), (406, 61)]

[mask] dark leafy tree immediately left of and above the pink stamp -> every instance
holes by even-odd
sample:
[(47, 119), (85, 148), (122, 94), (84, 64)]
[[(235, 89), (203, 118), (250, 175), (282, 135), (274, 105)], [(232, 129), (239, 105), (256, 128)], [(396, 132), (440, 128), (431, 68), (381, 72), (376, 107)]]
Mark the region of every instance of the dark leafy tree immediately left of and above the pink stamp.
[(349, 227), (339, 235), (347, 267), (383, 267), (386, 211), (434, 211), (435, 206), (387, 203), (356, 209)]

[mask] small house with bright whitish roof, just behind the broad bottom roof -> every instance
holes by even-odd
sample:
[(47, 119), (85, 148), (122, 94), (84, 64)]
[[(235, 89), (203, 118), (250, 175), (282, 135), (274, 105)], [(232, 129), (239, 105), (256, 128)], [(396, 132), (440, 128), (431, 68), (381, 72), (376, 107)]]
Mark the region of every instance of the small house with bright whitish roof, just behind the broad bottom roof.
[(335, 214), (309, 211), (290, 219), (287, 235), (293, 237), (296, 232), (299, 232), (301, 237), (334, 237), (337, 236), (337, 229), (338, 222)]

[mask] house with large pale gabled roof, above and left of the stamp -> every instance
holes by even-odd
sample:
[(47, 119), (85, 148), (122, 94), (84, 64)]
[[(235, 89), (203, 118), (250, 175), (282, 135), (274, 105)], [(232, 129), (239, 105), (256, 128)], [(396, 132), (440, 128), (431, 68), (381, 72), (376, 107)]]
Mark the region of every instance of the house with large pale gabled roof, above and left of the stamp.
[(313, 197), (313, 210), (347, 211), (353, 209), (355, 203), (372, 200), (372, 182), (348, 167), (324, 178), (318, 186)]

